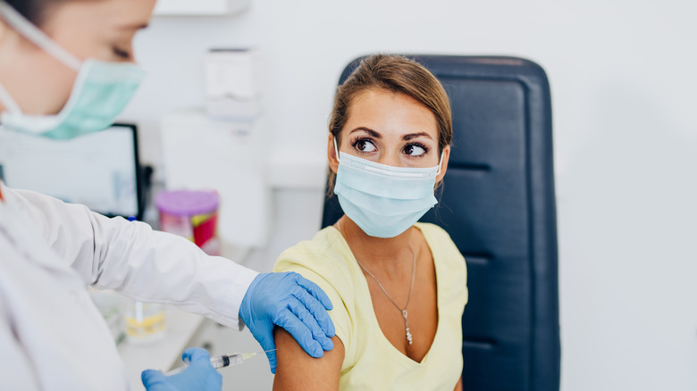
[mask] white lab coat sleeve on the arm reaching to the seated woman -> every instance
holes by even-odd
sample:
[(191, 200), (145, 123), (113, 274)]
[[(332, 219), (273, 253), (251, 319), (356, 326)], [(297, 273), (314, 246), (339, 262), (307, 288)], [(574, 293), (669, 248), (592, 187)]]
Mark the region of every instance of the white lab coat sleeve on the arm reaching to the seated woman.
[(4, 192), (87, 285), (241, 327), (239, 305), (256, 271), (209, 256), (186, 238), (146, 223), (109, 219), (35, 192), (7, 187)]

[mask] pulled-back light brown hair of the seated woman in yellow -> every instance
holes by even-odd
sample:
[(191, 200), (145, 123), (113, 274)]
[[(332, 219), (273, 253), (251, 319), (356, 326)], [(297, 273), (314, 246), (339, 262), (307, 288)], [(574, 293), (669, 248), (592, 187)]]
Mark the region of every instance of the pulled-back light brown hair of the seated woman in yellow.
[[(433, 113), (438, 125), (438, 154), (452, 140), (452, 114), (448, 94), (441, 82), (424, 65), (401, 55), (374, 54), (365, 57), (348, 79), (337, 87), (329, 119), (329, 131), (340, 144), (341, 129), (348, 121), (356, 96), (371, 90), (404, 94), (423, 104)], [(339, 156), (337, 156), (338, 158)], [(330, 194), (335, 174), (329, 171)]]

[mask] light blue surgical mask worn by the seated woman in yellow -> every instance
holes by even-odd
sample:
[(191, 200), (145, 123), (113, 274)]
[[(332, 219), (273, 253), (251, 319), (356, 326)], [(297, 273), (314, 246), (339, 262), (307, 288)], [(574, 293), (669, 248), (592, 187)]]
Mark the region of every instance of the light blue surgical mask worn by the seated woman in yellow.
[(396, 237), (438, 204), (433, 190), (441, 162), (430, 168), (392, 167), (339, 153), (334, 194), (341, 209), (365, 234)]

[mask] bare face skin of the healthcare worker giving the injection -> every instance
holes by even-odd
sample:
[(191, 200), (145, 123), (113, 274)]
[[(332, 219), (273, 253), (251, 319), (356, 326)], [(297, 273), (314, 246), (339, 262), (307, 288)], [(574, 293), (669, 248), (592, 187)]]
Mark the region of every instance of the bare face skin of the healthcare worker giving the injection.
[[(133, 37), (147, 26), (155, 0), (90, 0), (58, 3), (46, 12), (42, 29), (80, 60), (135, 62)], [(0, 83), (23, 112), (59, 112), (70, 96), (77, 71), (0, 20)], [(0, 107), (0, 111), (2, 107)]]

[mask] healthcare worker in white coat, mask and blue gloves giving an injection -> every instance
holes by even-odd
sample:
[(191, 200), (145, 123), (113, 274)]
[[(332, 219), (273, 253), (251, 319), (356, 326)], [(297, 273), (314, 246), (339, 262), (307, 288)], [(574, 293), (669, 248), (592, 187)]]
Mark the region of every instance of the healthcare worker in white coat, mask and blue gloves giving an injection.
[[(0, 0), (0, 131), (69, 139), (108, 127), (144, 76), (131, 44), (154, 5)], [(274, 325), (310, 355), (332, 349), (332, 304), (297, 274), (257, 274), (147, 224), (0, 184), (0, 389), (128, 388), (88, 285), (243, 322), (265, 350)], [(185, 358), (179, 375), (146, 371), (146, 388), (220, 389), (205, 352)]]

